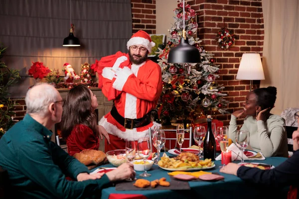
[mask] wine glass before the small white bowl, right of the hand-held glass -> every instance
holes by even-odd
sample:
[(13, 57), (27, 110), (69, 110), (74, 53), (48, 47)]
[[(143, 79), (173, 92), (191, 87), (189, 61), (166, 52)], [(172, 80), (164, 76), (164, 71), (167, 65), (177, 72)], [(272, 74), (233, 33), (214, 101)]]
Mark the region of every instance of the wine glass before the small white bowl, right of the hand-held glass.
[(144, 160), (145, 169), (144, 173), (140, 174), (141, 177), (149, 177), (150, 174), (146, 171), (147, 158), (150, 156), (151, 150), (149, 145), (149, 138), (139, 138), (138, 139), (138, 155)]

